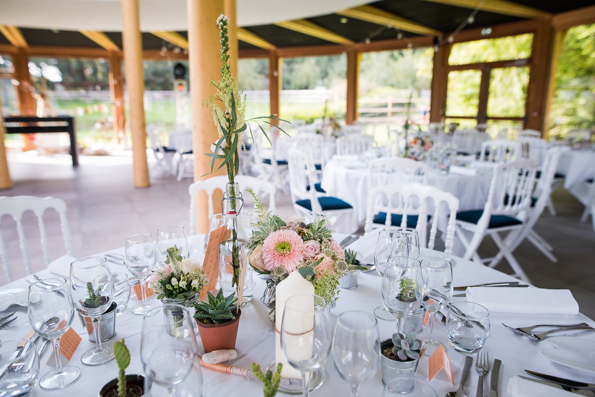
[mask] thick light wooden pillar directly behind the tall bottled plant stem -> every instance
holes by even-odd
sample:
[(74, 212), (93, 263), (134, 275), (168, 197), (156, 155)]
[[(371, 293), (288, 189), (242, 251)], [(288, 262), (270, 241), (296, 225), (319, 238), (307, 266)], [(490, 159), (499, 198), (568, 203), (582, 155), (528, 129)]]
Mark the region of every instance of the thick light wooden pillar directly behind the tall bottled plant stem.
[[(192, 99), (192, 150), (195, 153), (194, 179), (198, 181), (214, 175), (225, 175), (226, 172), (221, 169), (214, 175), (205, 175), (211, 168), (208, 165), (209, 157), (202, 154), (211, 152), (211, 144), (218, 138), (211, 109), (203, 106), (202, 102), (215, 93), (215, 88), (211, 86), (210, 81), (220, 78), (221, 46), (216, 21), (223, 13), (223, 0), (188, 0), (187, 7), (188, 61)], [(213, 198), (214, 203), (220, 201), (220, 198)], [(217, 211), (217, 205), (214, 207)], [(208, 231), (208, 201), (206, 194), (201, 192), (196, 197), (196, 232), (206, 233)]]

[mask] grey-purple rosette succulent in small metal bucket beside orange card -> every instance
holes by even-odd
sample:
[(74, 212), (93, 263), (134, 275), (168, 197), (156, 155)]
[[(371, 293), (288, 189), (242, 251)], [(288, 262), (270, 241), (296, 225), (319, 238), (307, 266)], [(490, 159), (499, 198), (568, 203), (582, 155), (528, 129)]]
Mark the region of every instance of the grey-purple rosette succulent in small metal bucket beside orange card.
[[(415, 374), (419, 365), (419, 358), (424, 355), (423, 342), (416, 339), (415, 332), (394, 333), (392, 339), (384, 339), (380, 344), (380, 366), (382, 381), (386, 384), (390, 380), (403, 374)], [(413, 387), (413, 377), (404, 381), (403, 393)]]

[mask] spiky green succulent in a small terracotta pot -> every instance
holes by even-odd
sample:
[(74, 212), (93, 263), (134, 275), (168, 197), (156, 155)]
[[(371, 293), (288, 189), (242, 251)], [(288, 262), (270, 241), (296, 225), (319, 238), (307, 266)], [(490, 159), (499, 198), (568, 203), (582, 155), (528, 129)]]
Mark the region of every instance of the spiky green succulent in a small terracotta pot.
[(237, 327), (240, 324), (242, 310), (236, 311), (237, 298), (235, 293), (223, 296), (223, 289), (219, 289), (217, 296), (207, 293), (208, 301), (194, 305), (194, 317), (198, 324), (202, 346), (205, 353), (221, 349), (235, 349)]

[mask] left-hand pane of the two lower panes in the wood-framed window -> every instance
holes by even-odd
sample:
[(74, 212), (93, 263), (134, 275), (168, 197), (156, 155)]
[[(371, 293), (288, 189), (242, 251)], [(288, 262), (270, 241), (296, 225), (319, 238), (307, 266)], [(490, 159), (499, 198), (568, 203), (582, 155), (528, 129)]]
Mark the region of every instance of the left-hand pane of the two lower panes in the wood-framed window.
[(477, 116), (481, 71), (455, 70), (448, 74), (446, 114), (449, 117)]

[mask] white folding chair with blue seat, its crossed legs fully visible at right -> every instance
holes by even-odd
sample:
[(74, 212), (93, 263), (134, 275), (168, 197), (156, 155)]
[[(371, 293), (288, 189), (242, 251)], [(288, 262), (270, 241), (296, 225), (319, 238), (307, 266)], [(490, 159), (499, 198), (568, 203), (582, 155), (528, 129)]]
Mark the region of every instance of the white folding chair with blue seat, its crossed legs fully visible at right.
[[(481, 241), (490, 235), (515, 272), (515, 276), (529, 282), (521, 265), (512, 255), (511, 246), (499, 233), (510, 232), (507, 241), (514, 241), (522, 232), (522, 219), (518, 217), (531, 206), (536, 164), (533, 160), (515, 160), (494, 167), (490, 191), (483, 210), (462, 211), (456, 215), (456, 235), (465, 247), (464, 259), (482, 260), (477, 253)], [(466, 232), (470, 232), (469, 239)]]

